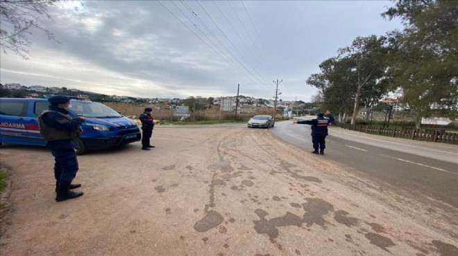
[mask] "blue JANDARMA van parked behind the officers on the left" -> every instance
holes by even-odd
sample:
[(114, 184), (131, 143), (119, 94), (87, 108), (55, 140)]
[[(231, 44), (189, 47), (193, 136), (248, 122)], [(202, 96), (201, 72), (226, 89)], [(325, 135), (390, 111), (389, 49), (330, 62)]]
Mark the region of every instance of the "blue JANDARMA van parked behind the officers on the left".
[[(83, 132), (76, 140), (77, 154), (90, 149), (118, 147), (140, 140), (137, 123), (99, 102), (71, 99), (70, 116), (83, 116)], [(0, 98), (0, 145), (42, 145), (38, 116), (47, 110), (44, 98)]]

